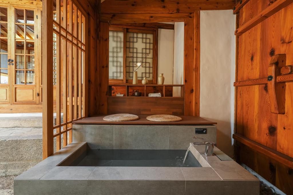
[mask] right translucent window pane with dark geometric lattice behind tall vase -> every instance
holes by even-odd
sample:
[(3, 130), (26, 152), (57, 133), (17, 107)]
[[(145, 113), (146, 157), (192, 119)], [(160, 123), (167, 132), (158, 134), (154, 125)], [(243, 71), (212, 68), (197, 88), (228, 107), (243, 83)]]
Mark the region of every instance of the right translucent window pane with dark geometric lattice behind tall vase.
[(135, 70), (139, 80), (153, 80), (153, 34), (127, 32), (126, 37), (126, 79), (132, 79)]

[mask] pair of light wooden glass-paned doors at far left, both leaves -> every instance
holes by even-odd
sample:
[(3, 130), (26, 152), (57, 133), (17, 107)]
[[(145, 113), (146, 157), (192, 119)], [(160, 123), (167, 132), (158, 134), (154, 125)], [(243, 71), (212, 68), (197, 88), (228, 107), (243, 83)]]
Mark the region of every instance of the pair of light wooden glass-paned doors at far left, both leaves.
[(38, 104), (40, 9), (0, 4), (0, 103)]

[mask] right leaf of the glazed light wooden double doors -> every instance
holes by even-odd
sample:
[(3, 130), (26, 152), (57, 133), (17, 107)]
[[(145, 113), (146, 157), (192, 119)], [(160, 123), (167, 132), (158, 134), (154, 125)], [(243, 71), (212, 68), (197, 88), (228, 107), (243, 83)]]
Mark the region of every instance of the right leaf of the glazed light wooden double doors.
[[(9, 13), (10, 12), (10, 13)], [(38, 25), (36, 8), (10, 6), (12, 104), (38, 104)]]

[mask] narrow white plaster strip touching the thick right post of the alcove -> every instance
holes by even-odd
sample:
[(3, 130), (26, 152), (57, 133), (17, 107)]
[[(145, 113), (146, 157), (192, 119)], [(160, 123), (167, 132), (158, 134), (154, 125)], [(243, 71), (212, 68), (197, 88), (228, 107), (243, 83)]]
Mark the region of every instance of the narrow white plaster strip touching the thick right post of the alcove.
[[(174, 68), (173, 84), (183, 84), (184, 72), (184, 22), (174, 23)], [(174, 96), (180, 96), (180, 89), (173, 89)]]

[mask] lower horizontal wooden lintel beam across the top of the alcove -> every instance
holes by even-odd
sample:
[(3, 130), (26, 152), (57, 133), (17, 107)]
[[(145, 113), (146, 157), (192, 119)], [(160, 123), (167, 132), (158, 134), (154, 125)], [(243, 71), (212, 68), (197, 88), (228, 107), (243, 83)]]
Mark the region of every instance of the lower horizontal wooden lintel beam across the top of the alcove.
[(194, 13), (139, 13), (139, 14), (102, 14), (101, 22), (110, 24), (125, 23), (159, 23), (159, 22), (184, 22), (194, 18)]

